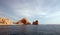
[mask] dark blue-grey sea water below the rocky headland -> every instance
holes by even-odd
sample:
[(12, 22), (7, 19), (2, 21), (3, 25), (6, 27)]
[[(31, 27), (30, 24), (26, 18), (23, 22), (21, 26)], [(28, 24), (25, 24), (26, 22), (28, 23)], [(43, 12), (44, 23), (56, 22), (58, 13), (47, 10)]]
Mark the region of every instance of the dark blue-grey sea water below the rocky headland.
[(0, 26), (0, 35), (60, 35), (60, 25)]

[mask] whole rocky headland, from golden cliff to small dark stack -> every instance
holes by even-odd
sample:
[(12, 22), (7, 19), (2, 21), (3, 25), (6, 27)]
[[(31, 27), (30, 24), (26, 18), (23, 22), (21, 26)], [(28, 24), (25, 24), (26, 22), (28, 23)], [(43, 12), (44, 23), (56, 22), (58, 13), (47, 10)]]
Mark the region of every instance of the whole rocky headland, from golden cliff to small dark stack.
[(0, 17), (0, 25), (38, 25), (38, 20), (33, 21), (32, 23), (29, 22), (27, 18), (19, 19), (16, 22), (13, 22), (9, 18), (1, 18)]

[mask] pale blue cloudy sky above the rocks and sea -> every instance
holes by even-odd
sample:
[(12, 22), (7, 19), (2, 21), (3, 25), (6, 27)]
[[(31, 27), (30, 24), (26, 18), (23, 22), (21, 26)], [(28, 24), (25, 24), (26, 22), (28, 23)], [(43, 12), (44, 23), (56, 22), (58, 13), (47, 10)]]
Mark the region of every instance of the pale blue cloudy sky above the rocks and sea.
[(39, 24), (60, 24), (60, 0), (0, 0), (0, 17), (18, 21), (26, 17)]

